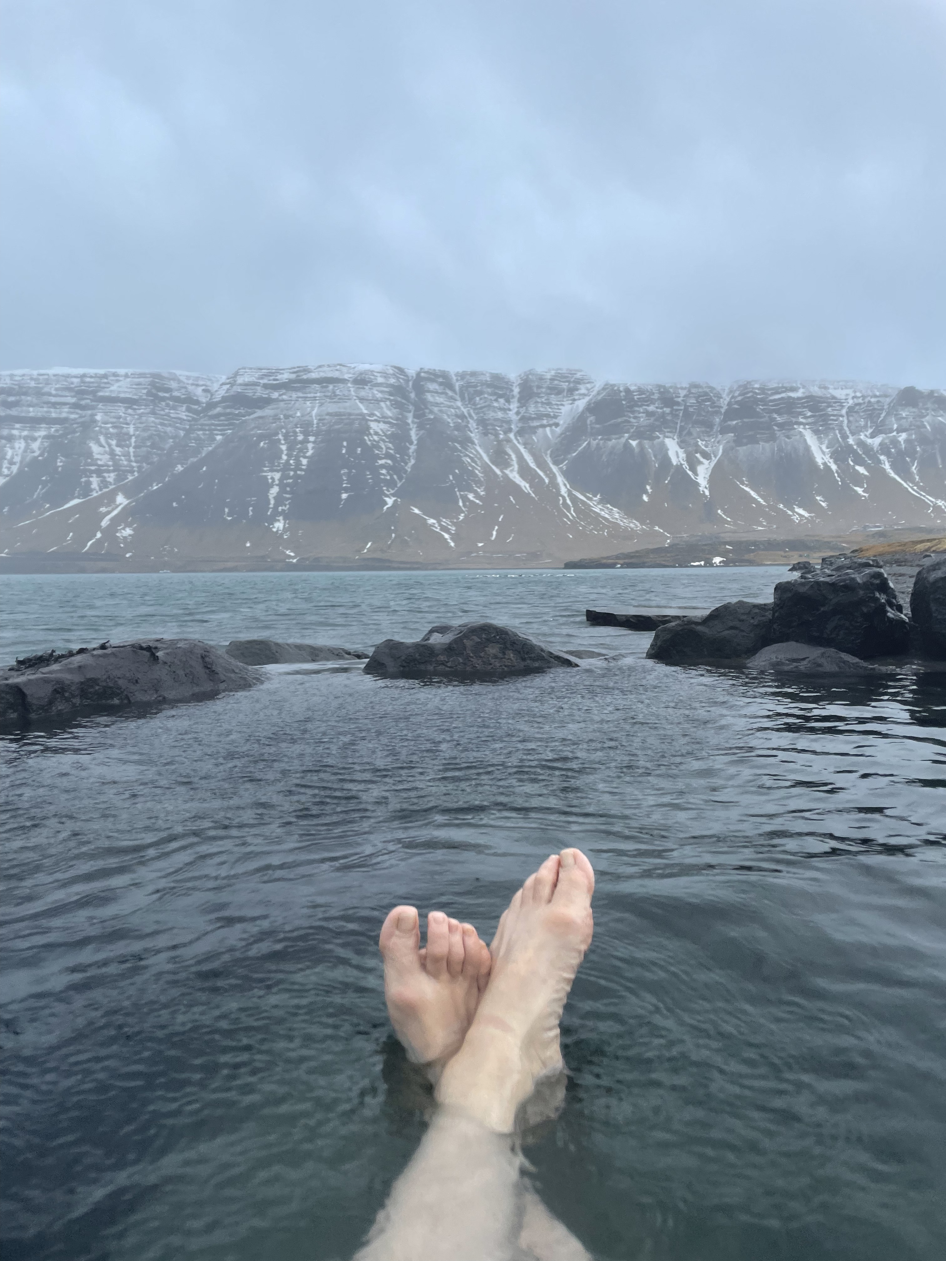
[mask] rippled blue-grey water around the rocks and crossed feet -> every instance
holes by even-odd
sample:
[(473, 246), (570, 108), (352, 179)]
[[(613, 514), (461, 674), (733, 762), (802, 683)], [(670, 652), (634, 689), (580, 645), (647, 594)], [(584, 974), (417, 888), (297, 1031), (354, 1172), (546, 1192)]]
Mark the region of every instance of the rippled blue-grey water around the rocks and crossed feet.
[(4, 1257), (349, 1257), (429, 1107), (387, 1031), (385, 912), (488, 934), (565, 845), (598, 886), (565, 1107), (526, 1136), (552, 1212), (600, 1258), (942, 1256), (946, 676), (680, 670), (584, 622), (781, 576), (5, 579), (4, 661), (470, 618), (613, 656), (272, 667), (5, 740)]

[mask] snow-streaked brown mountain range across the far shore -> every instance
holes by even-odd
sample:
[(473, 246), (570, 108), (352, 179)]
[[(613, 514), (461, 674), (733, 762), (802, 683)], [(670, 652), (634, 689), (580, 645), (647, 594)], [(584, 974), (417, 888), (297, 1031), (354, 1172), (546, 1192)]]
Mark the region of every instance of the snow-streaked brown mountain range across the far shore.
[(0, 375), (4, 551), (555, 564), (718, 531), (946, 525), (946, 395), (394, 366)]

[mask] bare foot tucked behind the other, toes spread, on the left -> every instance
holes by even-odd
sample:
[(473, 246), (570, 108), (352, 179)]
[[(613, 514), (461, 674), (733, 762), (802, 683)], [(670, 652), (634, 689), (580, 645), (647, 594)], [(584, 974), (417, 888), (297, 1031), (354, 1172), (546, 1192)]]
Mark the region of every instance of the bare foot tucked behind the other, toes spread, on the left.
[(391, 1024), (409, 1059), (436, 1079), (463, 1044), (489, 977), (491, 957), (473, 924), (428, 915), (428, 943), (420, 948), (414, 907), (395, 907), (381, 928), (385, 999)]

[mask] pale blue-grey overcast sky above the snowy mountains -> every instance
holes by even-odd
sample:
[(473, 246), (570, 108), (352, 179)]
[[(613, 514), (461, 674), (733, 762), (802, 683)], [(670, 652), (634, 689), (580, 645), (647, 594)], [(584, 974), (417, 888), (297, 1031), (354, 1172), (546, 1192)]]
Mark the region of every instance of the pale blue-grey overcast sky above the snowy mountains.
[(5, 0), (3, 366), (946, 386), (946, 0)]

